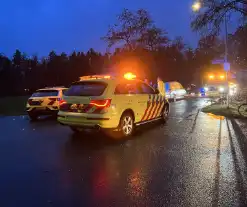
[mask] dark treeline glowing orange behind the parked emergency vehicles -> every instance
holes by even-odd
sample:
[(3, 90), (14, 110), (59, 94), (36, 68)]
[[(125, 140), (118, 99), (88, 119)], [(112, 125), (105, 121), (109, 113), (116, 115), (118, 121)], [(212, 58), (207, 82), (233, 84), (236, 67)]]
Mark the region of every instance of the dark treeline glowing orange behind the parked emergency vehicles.
[[(144, 38), (141, 43), (146, 45), (133, 47), (131, 42), (132, 45), (116, 48), (112, 54), (99, 53), (94, 49), (71, 54), (51, 51), (41, 59), (28, 57), (19, 50), (12, 58), (0, 54), (0, 96), (29, 94), (47, 86), (69, 86), (83, 75), (124, 70), (133, 71), (151, 81), (159, 76), (164, 81), (176, 80), (184, 86), (200, 84), (203, 74), (211, 67), (211, 61), (224, 55), (224, 41), (215, 35), (202, 37), (197, 48), (192, 49), (181, 37), (171, 41), (167, 36), (162, 36), (154, 42), (157, 33), (159, 30), (152, 27), (145, 35), (141, 34)], [(247, 68), (246, 37), (246, 26), (229, 35), (229, 60), (234, 69)], [(114, 41), (113, 38), (118, 37), (110, 38)]]

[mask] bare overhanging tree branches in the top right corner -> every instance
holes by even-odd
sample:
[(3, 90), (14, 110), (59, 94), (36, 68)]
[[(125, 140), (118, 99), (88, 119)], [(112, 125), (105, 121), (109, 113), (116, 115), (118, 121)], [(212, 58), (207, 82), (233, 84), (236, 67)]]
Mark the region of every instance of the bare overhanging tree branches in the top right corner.
[(194, 31), (218, 34), (225, 15), (247, 16), (247, 0), (204, 0), (191, 23)]

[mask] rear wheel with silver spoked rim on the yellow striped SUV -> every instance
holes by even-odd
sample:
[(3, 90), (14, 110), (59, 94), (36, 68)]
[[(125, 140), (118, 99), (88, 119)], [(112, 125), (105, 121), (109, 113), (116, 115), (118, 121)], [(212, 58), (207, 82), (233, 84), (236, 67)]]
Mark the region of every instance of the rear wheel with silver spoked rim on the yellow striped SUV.
[(134, 119), (132, 114), (125, 113), (122, 115), (120, 119), (120, 126), (119, 126), (121, 135), (123, 137), (129, 137), (134, 132)]

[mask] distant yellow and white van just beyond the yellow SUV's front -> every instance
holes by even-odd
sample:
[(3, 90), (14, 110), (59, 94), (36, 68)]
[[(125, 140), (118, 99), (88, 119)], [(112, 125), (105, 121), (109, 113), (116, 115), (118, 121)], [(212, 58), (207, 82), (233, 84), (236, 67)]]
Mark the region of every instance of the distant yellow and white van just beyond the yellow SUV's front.
[(183, 98), (186, 95), (184, 87), (176, 81), (165, 82), (166, 98)]

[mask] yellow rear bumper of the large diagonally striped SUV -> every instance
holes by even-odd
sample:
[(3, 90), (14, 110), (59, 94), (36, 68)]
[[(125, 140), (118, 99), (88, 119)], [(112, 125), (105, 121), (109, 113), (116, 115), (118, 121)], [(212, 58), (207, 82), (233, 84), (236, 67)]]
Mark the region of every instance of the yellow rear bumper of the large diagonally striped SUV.
[(109, 114), (83, 114), (59, 111), (57, 120), (62, 125), (81, 128), (117, 128), (119, 120)]

